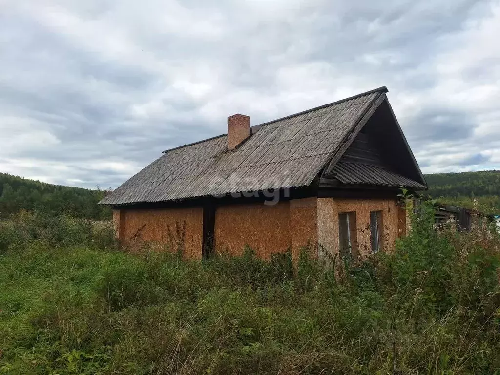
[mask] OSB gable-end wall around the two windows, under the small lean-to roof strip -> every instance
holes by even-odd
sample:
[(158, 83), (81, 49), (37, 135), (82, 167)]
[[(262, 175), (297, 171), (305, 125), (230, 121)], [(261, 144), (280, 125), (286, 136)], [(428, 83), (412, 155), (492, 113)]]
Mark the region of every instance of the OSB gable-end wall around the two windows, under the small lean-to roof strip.
[(401, 235), (405, 220), (401, 214), (402, 208), (396, 204), (396, 199), (318, 199), (318, 242), (331, 255), (338, 252), (338, 214), (356, 212), (357, 249), (359, 255), (366, 256), (371, 252), (370, 243), (370, 212), (382, 211), (384, 251), (394, 248), (394, 241)]

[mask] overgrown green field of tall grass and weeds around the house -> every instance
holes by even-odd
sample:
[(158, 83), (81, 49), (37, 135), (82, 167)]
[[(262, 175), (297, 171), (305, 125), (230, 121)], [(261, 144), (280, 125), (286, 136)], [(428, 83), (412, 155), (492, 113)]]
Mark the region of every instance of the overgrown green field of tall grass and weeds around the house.
[(110, 228), (22, 214), (0, 225), (0, 373), (500, 373), (494, 232), (393, 254), (203, 262), (117, 251)]

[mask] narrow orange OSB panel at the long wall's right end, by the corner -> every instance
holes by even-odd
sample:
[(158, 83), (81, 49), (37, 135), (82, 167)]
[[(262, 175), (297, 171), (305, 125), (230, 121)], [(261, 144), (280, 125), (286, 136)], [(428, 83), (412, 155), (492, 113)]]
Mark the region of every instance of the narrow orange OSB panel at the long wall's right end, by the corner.
[(302, 246), (309, 245), (310, 255), (316, 256), (317, 198), (290, 200), (290, 243), (293, 259), (298, 259)]

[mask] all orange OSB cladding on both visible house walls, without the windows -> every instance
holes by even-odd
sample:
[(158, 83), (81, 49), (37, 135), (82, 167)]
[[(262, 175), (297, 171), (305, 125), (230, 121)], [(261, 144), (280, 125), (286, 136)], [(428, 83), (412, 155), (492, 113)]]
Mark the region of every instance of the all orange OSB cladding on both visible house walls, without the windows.
[[(382, 211), (383, 250), (391, 251), (394, 240), (406, 232), (406, 215), (396, 199), (302, 198), (263, 203), (217, 206), (214, 223), (214, 251), (241, 255), (251, 246), (257, 256), (268, 259), (272, 253), (291, 249), (298, 259), (302, 246), (309, 245), (310, 254), (338, 252), (338, 214), (356, 212), (358, 255), (371, 250), (370, 211)], [(113, 211), (117, 238), (129, 248), (134, 243), (154, 241), (178, 246), (184, 258), (200, 259), (203, 244), (203, 208), (122, 209)], [(183, 229), (184, 228), (184, 229)], [(183, 239), (182, 239), (183, 238)], [(138, 244), (135, 248), (142, 248)]]

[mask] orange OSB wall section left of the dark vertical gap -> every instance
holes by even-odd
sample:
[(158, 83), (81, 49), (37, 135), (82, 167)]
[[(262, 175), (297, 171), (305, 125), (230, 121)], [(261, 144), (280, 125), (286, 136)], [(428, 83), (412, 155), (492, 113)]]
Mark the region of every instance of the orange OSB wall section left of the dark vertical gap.
[[(203, 208), (158, 208), (120, 210), (119, 237), (125, 245), (151, 241), (182, 251), (185, 259), (200, 259), (203, 233)], [(116, 221), (115, 221), (115, 225)]]

